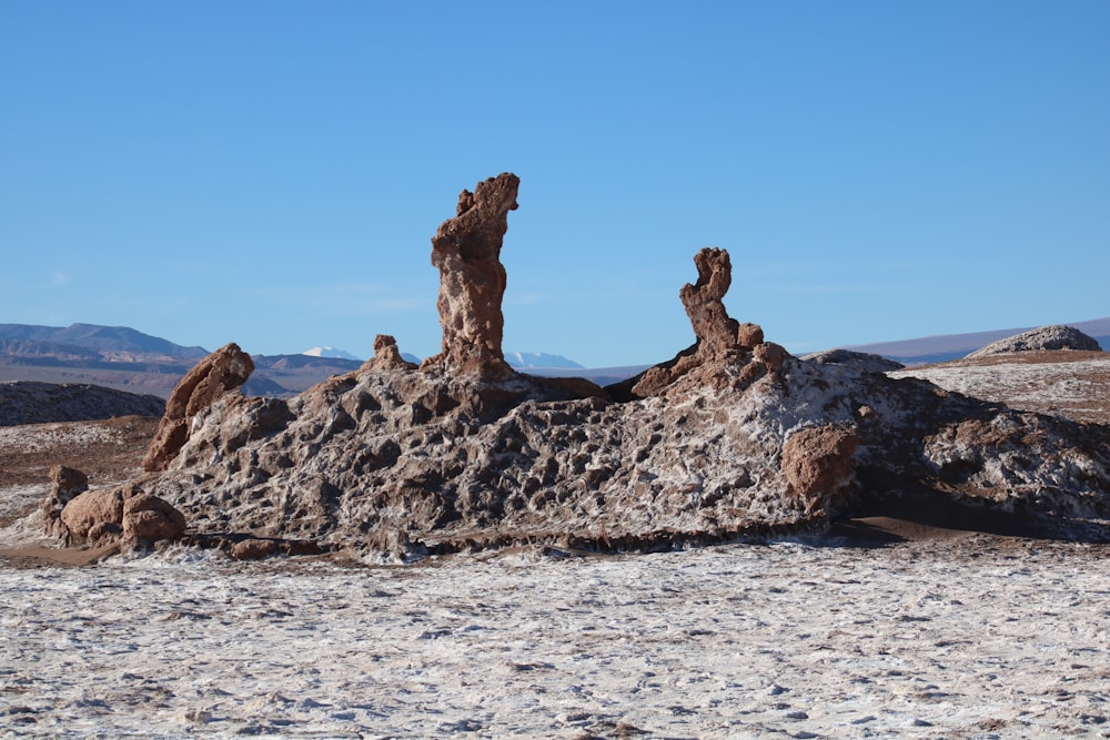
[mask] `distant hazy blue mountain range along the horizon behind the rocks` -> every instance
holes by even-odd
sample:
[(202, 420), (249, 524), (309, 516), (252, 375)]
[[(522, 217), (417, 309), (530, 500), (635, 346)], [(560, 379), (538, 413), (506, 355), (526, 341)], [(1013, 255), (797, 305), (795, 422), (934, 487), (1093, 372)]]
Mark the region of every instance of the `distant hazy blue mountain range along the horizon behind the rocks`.
[[(1110, 317), (1070, 324), (1110, 348)], [(956, 359), (997, 339), (1035, 327), (948, 334), (917, 339), (846, 347), (870, 352), (905, 365)], [(109, 388), (168, 397), (181, 377), (209, 354), (127, 326), (37, 326), (0, 324), (0, 382), (91, 383)], [(334, 355), (334, 356), (330, 356)], [(410, 354), (410, 362), (418, 362)], [(314, 347), (295, 355), (253, 355), (254, 373), (243, 391), (258, 396), (289, 396), (326, 379), (355, 371), (362, 361), (334, 347)], [(647, 365), (585, 368), (562, 355), (506, 352), (513, 367), (533, 375), (584, 377), (608, 385), (632, 377)], [(660, 358), (668, 359), (668, 358)]]

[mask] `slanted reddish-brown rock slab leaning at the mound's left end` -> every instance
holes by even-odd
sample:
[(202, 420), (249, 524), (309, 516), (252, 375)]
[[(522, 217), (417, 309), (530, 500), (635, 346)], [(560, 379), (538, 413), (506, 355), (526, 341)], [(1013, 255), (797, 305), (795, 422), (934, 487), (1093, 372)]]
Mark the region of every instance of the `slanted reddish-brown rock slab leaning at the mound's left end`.
[(239, 388), (254, 372), (254, 361), (234, 342), (216, 349), (185, 374), (170, 394), (165, 414), (150, 443), (142, 467), (164, 470), (189, 439), (189, 424), (225, 393)]

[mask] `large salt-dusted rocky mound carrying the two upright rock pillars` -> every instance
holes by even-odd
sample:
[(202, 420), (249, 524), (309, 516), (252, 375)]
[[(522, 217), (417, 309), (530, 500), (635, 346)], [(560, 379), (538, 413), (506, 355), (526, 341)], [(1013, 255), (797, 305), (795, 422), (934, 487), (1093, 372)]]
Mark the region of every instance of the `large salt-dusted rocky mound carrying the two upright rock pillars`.
[(398, 554), (819, 531), (860, 501), (900, 496), (1106, 535), (1110, 429), (892, 379), (850, 357), (793, 357), (728, 316), (723, 250), (695, 256), (698, 280), (680, 297), (697, 342), (674, 359), (607, 388), (513, 371), (497, 255), (517, 185), (503, 174), (463, 191), (433, 239), (440, 355), (415, 367), (381, 336), (359, 371), (292, 399), (225, 384), (184, 416), (168, 410), (167, 425), (188, 418), (188, 434), (122, 498), (168, 501), (199, 535)]

